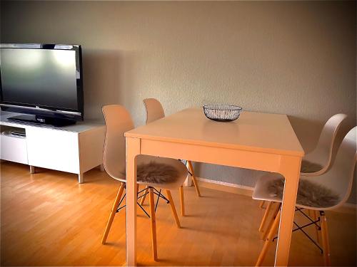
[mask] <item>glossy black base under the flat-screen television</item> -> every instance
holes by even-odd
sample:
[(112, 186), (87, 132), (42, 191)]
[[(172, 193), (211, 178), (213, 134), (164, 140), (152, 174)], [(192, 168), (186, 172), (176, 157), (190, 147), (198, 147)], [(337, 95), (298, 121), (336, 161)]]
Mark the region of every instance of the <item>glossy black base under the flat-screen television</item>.
[(56, 127), (63, 127), (76, 123), (76, 120), (59, 119), (54, 117), (42, 117), (37, 115), (19, 115), (14, 117), (8, 117), (7, 120), (11, 122), (26, 122), (36, 125), (51, 125)]

